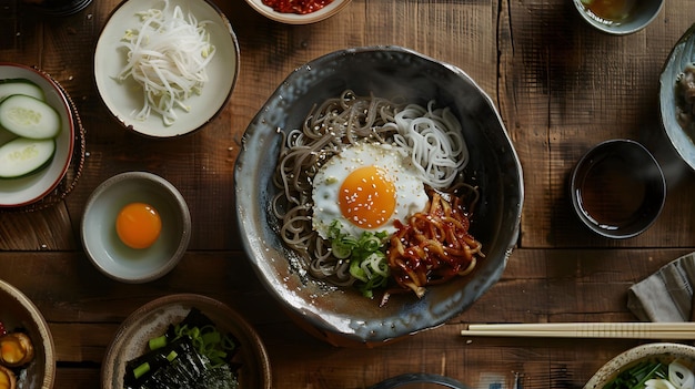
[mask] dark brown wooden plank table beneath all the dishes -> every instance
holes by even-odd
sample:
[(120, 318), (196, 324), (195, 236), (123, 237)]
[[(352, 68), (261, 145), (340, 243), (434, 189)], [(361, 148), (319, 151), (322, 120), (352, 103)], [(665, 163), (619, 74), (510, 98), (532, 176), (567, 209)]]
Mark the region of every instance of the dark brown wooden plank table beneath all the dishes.
[[(278, 388), (365, 388), (404, 372), (442, 373), (473, 388), (581, 387), (613, 356), (647, 340), (462, 338), (467, 323), (635, 321), (626, 290), (695, 247), (695, 177), (664, 140), (657, 76), (693, 20), (693, 2), (667, 1), (628, 37), (588, 28), (570, 0), (353, 0), (311, 25), (283, 25), (243, 0), (216, 0), (239, 37), (241, 71), (221, 116), (184, 139), (129, 134), (112, 121), (92, 80), (97, 38), (118, 0), (42, 19), (0, 0), (0, 61), (37, 65), (74, 100), (87, 131), (78, 185), (58, 205), (0, 214), (0, 278), (23, 290), (50, 324), (56, 388), (95, 388), (104, 349), (140, 305), (198, 293), (238, 309), (268, 347)], [(300, 329), (258, 284), (241, 252), (233, 208), (240, 139), (259, 108), (296, 66), (349, 47), (403, 45), (466, 71), (492, 96), (520, 154), (525, 204), (517, 248), (503, 278), (445, 326), (385, 347), (336, 348)], [(638, 237), (608, 240), (571, 212), (566, 178), (593, 144), (643, 142), (668, 183), (665, 208)], [(79, 238), (87, 197), (105, 178), (150, 171), (187, 198), (193, 235), (164, 278), (120, 284), (89, 263)], [(491, 386), (492, 385), (492, 386)]]

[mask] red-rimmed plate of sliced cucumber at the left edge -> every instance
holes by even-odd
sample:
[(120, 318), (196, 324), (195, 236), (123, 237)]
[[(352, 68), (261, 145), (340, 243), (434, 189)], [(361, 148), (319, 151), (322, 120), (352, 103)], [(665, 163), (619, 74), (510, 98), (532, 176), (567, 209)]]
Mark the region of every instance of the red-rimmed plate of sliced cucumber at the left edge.
[(0, 207), (29, 205), (56, 190), (73, 147), (64, 91), (40, 70), (0, 62)]

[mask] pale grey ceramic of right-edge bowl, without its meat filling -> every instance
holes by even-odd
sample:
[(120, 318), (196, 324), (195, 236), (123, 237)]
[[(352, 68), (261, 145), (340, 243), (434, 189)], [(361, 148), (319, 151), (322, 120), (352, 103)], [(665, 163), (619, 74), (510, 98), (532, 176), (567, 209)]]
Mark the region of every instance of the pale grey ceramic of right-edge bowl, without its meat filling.
[(676, 82), (686, 65), (695, 62), (695, 24), (676, 42), (658, 79), (658, 105), (664, 131), (681, 158), (695, 170), (695, 125), (684, 129), (678, 121)]

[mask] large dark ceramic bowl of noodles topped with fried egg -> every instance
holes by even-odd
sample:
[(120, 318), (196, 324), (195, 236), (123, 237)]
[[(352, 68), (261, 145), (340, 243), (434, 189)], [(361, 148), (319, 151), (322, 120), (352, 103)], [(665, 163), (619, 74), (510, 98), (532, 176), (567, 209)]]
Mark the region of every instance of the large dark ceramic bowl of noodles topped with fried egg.
[(298, 68), (249, 124), (234, 178), (260, 280), (339, 346), (461, 314), (518, 235), (522, 170), (492, 100), (461, 69), (400, 47)]

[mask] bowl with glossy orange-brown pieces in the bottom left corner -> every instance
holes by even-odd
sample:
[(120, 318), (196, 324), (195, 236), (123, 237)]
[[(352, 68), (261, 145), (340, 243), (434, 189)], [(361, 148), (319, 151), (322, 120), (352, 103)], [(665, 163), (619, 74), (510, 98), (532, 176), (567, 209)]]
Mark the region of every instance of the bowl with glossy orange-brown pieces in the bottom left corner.
[(2, 279), (0, 301), (0, 388), (52, 388), (56, 350), (41, 311), (19, 288)]

